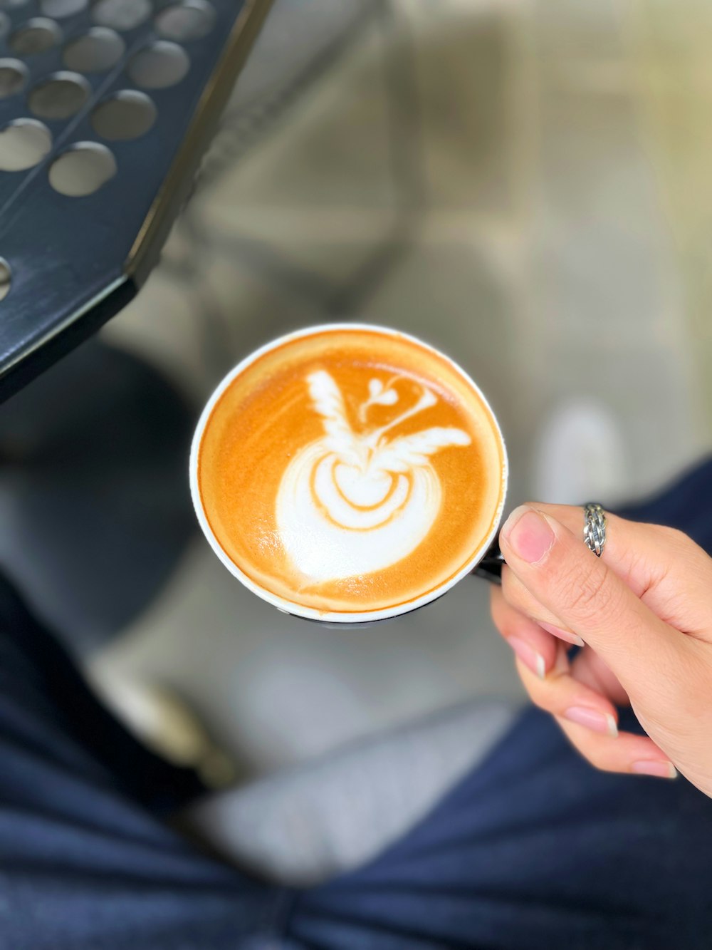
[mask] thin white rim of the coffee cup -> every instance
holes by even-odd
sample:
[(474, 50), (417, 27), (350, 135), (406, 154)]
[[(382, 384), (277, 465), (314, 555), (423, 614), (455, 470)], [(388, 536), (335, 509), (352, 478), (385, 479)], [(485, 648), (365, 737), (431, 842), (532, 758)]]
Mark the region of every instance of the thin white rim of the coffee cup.
[[(437, 587), (432, 588), (427, 591), (426, 594), (423, 594), (421, 597), (408, 600), (406, 603), (398, 604), (395, 607), (382, 607), (377, 610), (364, 610), (364, 611), (321, 611), (317, 610), (314, 607), (306, 607), (302, 604), (299, 604), (293, 600), (288, 600), (281, 598), (276, 594), (272, 594), (272, 591), (267, 590), (267, 588), (262, 587), (260, 584), (256, 583), (252, 578), (242, 571), (237, 564), (228, 556), (228, 554), (223, 549), (220, 542), (215, 537), (210, 523), (205, 515), (202, 499), (200, 498), (200, 491), (198, 488), (197, 482), (197, 463), (199, 457), (200, 443), (202, 442), (202, 436), (207, 426), (208, 420), (210, 419), (213, 409), (217, 401), (222, 396), (223, 392), (228, 389), (233, 380), (240, 375), (242, 372), (247, 370), (248, 367), (252, 366), (260, 357), (264, 356), (265, 353), (271, 352), (277, 347), (284, 346), (287, 343), (292, 342), (293, 340), (301, 339), (305, 336), (315, 336), (321, 333), (332, 333), (336, 331), (365, 331), (370, 333), (382, 333), (385, 336), (395, 337), (396, 339), (407, 340), (410, 343), (424, 348), (426, 351), (434, 353), (439, 356), (441, 359), (444, 359), (460, 376), (463, 377), (465, 382), (473, 388), (478, 394), (478, 397), (482, 401), (482, 404), (487, 409), (492, 419), (495, 431), (499, 439), (499, 445), (501, 447), (502, 453), (502, 470), (501, 470), (501, 482), (500, 482), (500, 496), (499, 503), (497, 504), (497, 509), (495, 511), (495, 516), (493, 518), (492, 527), (485, 538), (478, 544), (478, 547), (475, 553), (462, 565), (459, 571), (454, 574), (448, 580), (443, 581)], [(419, 339), (417, 336), (413, 336), (411, 333), (403, 333), (400, 330), (393, 330), (390, 327), (379, 326), (374, 323), (357, 323), (357, 322), (348, 322), (348, 323), (324, 323), (312, 325), (309, 327), (304, 327), (301, 330), (295, 330), (291, 333), (284, 333), (281, 336), (276, 337), (269, 343), (263, 344), (257, 350), (249, 353), (244, 359), (234, 367), (233, 370), (227, 373), (226, 376), (217, 384), (215, 390), (213, 390), (212, 395), (210, 396), (208, 402), (205, 404), (200, 417), (198, 418), (196, 430), (193, 434), (193, 441), (191, 443), (190, 451), (190, 461), (189, 461), (189, 477), (190, 477), (190, 490), (191, 498), (193, 500), (193, 507), (196, 511), (197, 522), (202, 529), (203, 534), (205, 535), (210, 546), (213, 548), (213, 551), (217, 555), (217, 558), (222, 561), (225, 567), (230, 571), (230, 573), (245, 587), (256, 594), (257, 597), (266, 600), (268, 603), (271, 603), (272, 606), (276, 607), (277, 610), (281, 611), (283, 614), (290, 614), (292, 617), (306, 618), (309, 620), (321, 620), (324, 623), (338, 623), (348, 626), (348, 624), (354, 623), (365, 623), (369, 621), (384, 620), (395, 617), (400, 617), (403, 614), (409, 614), (414, 610), (417, 610), (420, 607), (425, 606), (425, 604), (431, 603), (433, 600), (437, 600), (442, 597), (451, 587), (454, 587), (459, 583), (462, 578), (467, 574), (471, 574), (472, 571), (477, 567), (479, 561), (482, 560), (484, 554), (489, 548), (490, 544), (497, 537), (497, 532), (499, 530), (499, 525), (502, 520), (502, 512), (504, 510), (504, 504), (507, 497), (507, 488), (509, 485), (509, 457), (507, 454), (507, 445), (504, 441), (504, 436), (502, 435), (502, 430), (499, 428), (499, 423), (497, 421), (497, 416), (493, 411), (492, 407), (489, 404), (486, 396), (479, 389), (478, 384), (470, 376), (470, 374), (464, 371), (459, 364), (451, 357), (445, 353), (438, 350), (436, 347), (432, 346), (429, 343), (425, 343), (422, 339)]]

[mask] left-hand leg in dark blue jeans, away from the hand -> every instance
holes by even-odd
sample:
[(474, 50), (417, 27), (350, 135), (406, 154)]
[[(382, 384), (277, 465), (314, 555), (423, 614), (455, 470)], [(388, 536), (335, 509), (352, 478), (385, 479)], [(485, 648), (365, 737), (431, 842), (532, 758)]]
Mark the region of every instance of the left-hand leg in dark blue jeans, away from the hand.
[(0, 948), (284, 946), (284, 889), (161, 821), (201, 790), (106, 712), (0, 580)]

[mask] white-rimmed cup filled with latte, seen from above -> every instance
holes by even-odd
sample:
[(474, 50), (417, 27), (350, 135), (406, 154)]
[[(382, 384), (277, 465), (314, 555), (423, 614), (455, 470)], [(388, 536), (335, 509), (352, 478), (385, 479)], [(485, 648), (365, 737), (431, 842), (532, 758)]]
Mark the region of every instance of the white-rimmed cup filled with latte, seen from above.
[(482, 560), (507, 490), (497, 419), (459, 366), (366, 324), (282, 336), (220, 383), (190, 481), (215, 554), (280, 610), (397, 617)]

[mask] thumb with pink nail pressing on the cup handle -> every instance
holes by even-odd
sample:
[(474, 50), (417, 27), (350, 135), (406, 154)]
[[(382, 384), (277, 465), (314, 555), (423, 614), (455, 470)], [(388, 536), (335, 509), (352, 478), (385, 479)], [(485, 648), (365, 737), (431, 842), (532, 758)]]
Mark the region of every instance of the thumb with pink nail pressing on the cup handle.
[[(532, 505), (516, 508), (500, 546), (529, 593), (589, 643), (624, 685), (644, 657), (662, 660), (677, 651), (681, 635), (551, 514)], [(661, 675), (665, 662), (654, 664)]]

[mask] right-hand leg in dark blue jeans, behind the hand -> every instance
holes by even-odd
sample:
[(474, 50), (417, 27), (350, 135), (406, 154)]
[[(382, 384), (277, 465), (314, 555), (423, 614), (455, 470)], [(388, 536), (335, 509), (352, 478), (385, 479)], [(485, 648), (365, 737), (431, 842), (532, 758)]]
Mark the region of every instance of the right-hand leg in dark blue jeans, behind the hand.
[[(712, 463), (626, 514), (712, 551)], [(530, 710), (401, 842), (302, 893), (288, 933), (319, 950), (706, 950), (711, 853), (702, 792), (597, 771)]]

